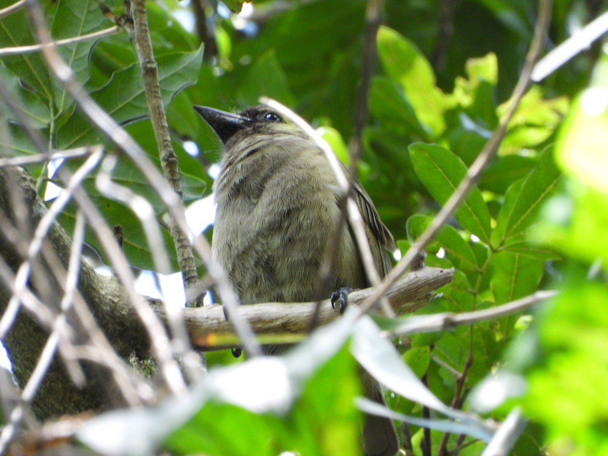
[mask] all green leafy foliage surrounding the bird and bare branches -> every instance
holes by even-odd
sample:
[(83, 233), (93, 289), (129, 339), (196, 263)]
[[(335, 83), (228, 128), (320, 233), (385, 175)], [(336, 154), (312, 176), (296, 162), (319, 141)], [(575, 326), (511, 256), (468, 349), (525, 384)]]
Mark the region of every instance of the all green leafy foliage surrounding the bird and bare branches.
[[(123, 12), (122, 2), (103, 4), (117, 15)], [(547, 47), (595, 18), (599, 5), (555, 1)], [(111, 26), (97, 2), (58, 0), (44, 6), (54, 39)], [(231, 13), (223, 4), (218, 13), (209, 7), (207, 17), (198, 19), (212, 31), (214, 54), (213, 40), (204, 37), (206, 47), (201, 46), (193, 24), (176, 19), (192, 18), (190, 5), (148, 3), (186, 202), (210, 193), (209, 171), (219, 149), (192, 105), (232, 110), (257, 103), (261, 95), (275, 98), (320, 128), (345, 159), (361, 80), (366, 7), (358, 0), (260, 1), (249, 16)], [(452, 9), (447, 18), (446, 8)], [(535, 20), (536, 4), (525, 0), (385, 1), (358, 177), (402, 252), (446, 202), (497, 127)], [(2, 18), (0, 47), (34, 42), (24, 10)], [(60, 52), (86, 91), (159, 163), (139, 64), (126, 33), (70, 44)], [(530, 421), (513, 454), (608, 452), (607, 64), (596, 43), (531, 86), (496, 157), (427, 246), (426, 263), (454, 267), (455, 275), (420, 313), (491, 308), (538, 289), (558, 289), (559, 296), (525, 315), (395, 340), (402, 359), (445, 404), (497, 421), (521, 407)], [(0, 74), (52, 147), (105, 141), (74, 108), (40, 55), (6, 55)], [(3, 154), (37, 153), (4, 105), (2, 116), (8, 121)], [(192, 143), (198, 147), (193, 154)], [(30, 171), (44, 194), (46, 171)], [(130, 161), (121, 159), (113, 176), (162, 215), (160, 199)], [(132, 264), (152, 269), (139, 219), (98, 193), (94, 175), (85, 185), (108, 224), (123, 227), (123, 248)], [(74, 209), (63, 213), (61, 223), (73, 225)], [(97, 243), (92, 235), (88, 241)], [(173, 252), (170, 242), (167, 235)], [(355, 368), (347, 350), (337, 348), (303, 383), (287, 415), (202, 401), (189, 421), (173, 422), (165, 445), (178, 454), (254, 454), (252, 448), (260, 449), (255, 454), (294, 448), (301, 454), (336, 454), (332, 445), (344, 441), (340, 454), (356, 454), (358, 446), (348, 447), (357, 435), (351, 402), (358, 389)], [(208, 360), (215, 367), (230, 362), (230, 356), (214, 353)], [(397, 412), (428, 416), (416, 401), (390, 394), (387, 400)], [(471, 437), (434, 430), (423, 453), (423, 428), (410, 425), (409, 432), (412, 454), (480, 454), (484, 447)]]

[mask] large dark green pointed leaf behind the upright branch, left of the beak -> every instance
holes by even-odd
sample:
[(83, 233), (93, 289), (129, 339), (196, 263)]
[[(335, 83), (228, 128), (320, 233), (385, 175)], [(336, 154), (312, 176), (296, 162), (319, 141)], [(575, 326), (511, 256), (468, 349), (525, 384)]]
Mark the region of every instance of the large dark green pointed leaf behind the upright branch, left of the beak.
[[(157, 59), (162, 102), (168, 106), (182, 89), (196, 82), (202, 63), (202, 46), (188, 54), (170, 54)], [(92, 98), (120, 125), (128, 125), (148, 117), (139, 64), (117, 71)], [(98, 142), (97, 129), (75, 111), (58, 132), (58, 147), (71, 148)]]

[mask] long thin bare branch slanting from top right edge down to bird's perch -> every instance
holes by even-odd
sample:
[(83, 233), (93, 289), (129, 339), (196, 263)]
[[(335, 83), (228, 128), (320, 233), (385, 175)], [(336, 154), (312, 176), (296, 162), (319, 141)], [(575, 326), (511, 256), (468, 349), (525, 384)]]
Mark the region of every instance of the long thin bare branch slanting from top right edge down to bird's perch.
[(551, 0), (541, 0), (539, 5), (539, 13), (538, 20), (536, 22), (536, 27), (534, 29), (534, 37), (530, 44), (530, 49), (528, 50), (528, 54), (526, 56), (525, 65), (522, 70), (522, 74), (519, 77), (519, 81), (517, 81), (516, 88), (513, 91), (513, 95), (509, 100), (509, 109), (506, 112), (506, 115), (501, 120), (499, 126), (494, 130), (492, 136), (486, 143), (483, 150), (477, 156), (471, 167), (466, 173), (465, 178), (460, 181), (454, 193), (447, 200), (446, 204), (444, 204), (443, 208), (441, 208), (440, 212), (435, 216), (435, 218), (431, 221), (426, 230), (420, 235), (418, 239), (416, 239), (415, 243), (413, 243), (412, 247), (407, 250), (406, 255), (402, 258), (401, 261), (389, 272), (387, 277), (384, 278), (382, 282), (382, 286), (379, 286), (376, 289), (376, 293), (370, 298), (370, 300), (362, 306), (362, 309), (365, 311), (368, 308), (371, 308), (378, 299), (382, 297), (382, 294), (386, 291), (389, 285), (396, 280), (399, 275), (401, 275), (410, 264), (418, 257), (418, 254), (424, 249), (427, 243), (434, 237), (434, 235), (441, 229), (444, 223), (446, 223), (447, 218), (454, 212), (456, 207), (465, 199), (469, 190), (471, 190), (475, 181), (477, 181), (478, 177), (482, 173), (483, 169), (492, 159), (496, 150), (498, 149), (500, 142), (502, 142), (503, 137), (506, 134), (506, 128), (515, 113), (517, 106), (519, 106), (519, 102), (522, 100), (523, 95), (528, 91), (528, 87), (530, 86), (530, 78), (532, 69), (534, 67), (534, 63), (537, 58), (541, 54), (542, 45), (544, 41), (545, 33), (547, 32), (547, 27), (549, 23), (549, 19), (551, 16)]

